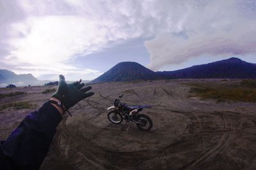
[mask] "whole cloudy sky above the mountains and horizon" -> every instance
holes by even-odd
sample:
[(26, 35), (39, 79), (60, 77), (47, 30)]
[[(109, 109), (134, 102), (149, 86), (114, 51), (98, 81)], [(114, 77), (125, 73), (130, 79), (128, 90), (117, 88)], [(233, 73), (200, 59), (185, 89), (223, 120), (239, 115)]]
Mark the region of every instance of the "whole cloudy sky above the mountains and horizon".
[(92, 80), (122, 61), (256, 63), (256, 0), (0, 0), (0, 32), (0, 69), (38, 80)]

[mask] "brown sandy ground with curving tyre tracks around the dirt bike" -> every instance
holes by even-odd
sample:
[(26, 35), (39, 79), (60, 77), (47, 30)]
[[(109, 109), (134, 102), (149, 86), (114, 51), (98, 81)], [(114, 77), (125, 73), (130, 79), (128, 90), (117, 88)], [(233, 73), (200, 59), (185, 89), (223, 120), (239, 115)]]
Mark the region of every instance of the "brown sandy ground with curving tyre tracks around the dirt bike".
[[(188, 83), (195, 81), (230, 83), (170, 80), (92, 85), (95, 95), (74, 106), (73, 117), (63, 118), (41, 169), (256, 169), (256, 104), (189, 97)], [(0, 104), (31, 101), (39, 108), (51, 96), (41, 92), (52, 88), (16, 88), (29, 94)], [(124, 103), (153, 106), (141, 112), (153, 120), (150, 132), (141, 132), (134, 124), (126, 132), (129, 124), (108, 121), (106, 108), (120, 94)], [(30, 111), (1, 111), (0, 139), (6, 139)]]

